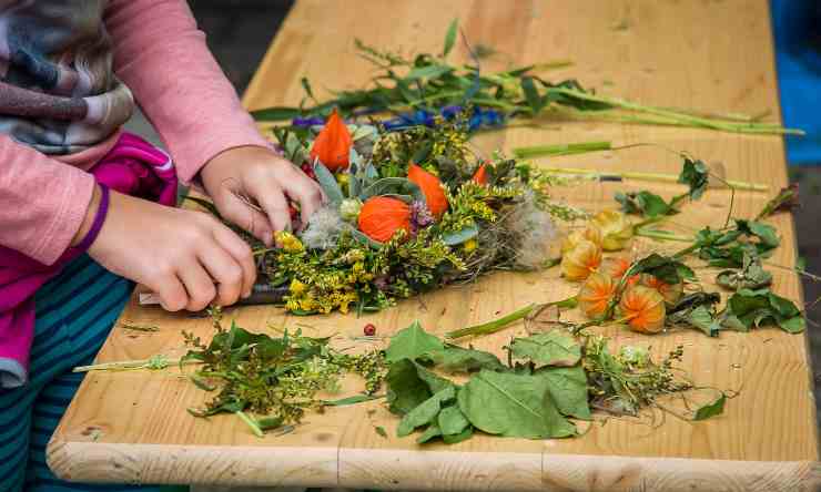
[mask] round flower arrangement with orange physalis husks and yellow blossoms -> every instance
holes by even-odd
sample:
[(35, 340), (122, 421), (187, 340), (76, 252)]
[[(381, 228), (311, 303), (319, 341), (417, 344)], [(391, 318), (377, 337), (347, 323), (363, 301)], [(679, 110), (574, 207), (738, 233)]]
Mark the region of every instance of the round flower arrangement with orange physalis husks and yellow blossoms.
[[(397, 299), (499, 269), (536, 269), (557, 252), (555, 176), (496, 154), (476, 155), (462, 115), (387, 132), (345, 124), (274, 130), (276, 147), (312, 176), (326, 205), (276, 247), (254, 245), (260, 273), (286, 287), (288, 311), (379, 310)], [(295, 214), (296, 215), (296, 214)]]

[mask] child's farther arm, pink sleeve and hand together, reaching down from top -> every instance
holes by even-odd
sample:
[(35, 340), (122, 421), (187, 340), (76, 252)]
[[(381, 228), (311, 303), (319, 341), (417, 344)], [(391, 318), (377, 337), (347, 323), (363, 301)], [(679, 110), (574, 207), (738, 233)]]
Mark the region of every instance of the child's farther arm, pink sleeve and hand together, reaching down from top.
[(226, 218), (270, 245), (273, 230), (291, 226), (286, 196), (301, 204), (303, 222), (321, 206), (318, 185), (267, 148), (185, 1), (112, 0), (105, 24), (115, 73), (169, 146), (180, 177), (200, 173)]

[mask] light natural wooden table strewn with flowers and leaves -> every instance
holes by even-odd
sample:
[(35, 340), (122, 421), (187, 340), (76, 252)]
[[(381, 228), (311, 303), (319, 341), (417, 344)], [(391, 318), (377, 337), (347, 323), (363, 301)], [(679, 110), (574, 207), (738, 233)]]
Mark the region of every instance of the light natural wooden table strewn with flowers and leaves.
[[(485, 70), (570, 59), (572, 68), (547, 76), (578, 78), (604, 93), (652, 104), (746, 113), (769, 109), (779, 114), (764, 0), (300, 1), (245, 94), (245, 104), (259, 109), (295, 103), (303, 95), (301, 76), (314, 81), (315, 90), (361, 85), (368, 80), (368, 65), (354, 55), (355, 37), (381, 47), (436, 52), (454, 18), (462, 20), (474, 44), (501, 53), (486, 61)], [(454, 55), (465, 54), (457, 43)], [(787, 184), (783, 143), (773, 136), (553, 122), (541, 130), (486, 134), (479, 144), (489, 150), (592, 140), (655, 142), (721, 163), (730, 178), (764, 182), (773, 192)], [(551, 164), (668, 173), (680, 166), (675, 155), (652, 147)], [(680, 189), (651, 188), (668, 196)], [(614, 205), (614, 189), (589, 184), (557, 193), (599, 209)], [(768, 196), (740, 193), (734, 214), (754, 214)], [(721, 225), (728, 204), (729, 193), (711, 191), (688, 205), (677, 222)], [(793, 265), (792, 218), (780, 215), (772, 223), (783, 237), (772, 262)], [(386, 335), (419, 318), (428, 330), (444, 332), (526, 303), (566, 297), (576, 287), (559, 280), (555, 270), (495, 275), (364, 319), (334, 315), (301, 320), (314, 327), (308, 332), (361, 334), (365, 322), (374, 322)], [(795, 275), (774, 274), (774, 289), (801, 300)], [(229, 316), (254, 329), (294, 322), (273, 307), (245, 307)], [(180, 353), (180, 330), (211, 332), (205, 319), (134, 303), (123, 318), (162, 329), (134, 335), (115, 328), (99, 361)], [(476, 345), (498, 351), (514, 332), (521, 328)], [(740, 393), (728, 402), (724, 416), (700, 423), (667, 418), (650, 429), (610, 420), (578, 439), (480, 435), (457, 445), (419, 448), (413, 438), (393, 437), (397, 419), (381, 402), (331, 409), (310, 416), (293, 433), (257, 439), (234, 417), (189, 416), (185, 408), (201, 404), (206, 393), (176, 377), (175, 370), (99, 372), (85, 378), (63, 418), (49, 448), (49, 464), (64, 479), (142, 483), (550, 491), (797, 491), (821, 484), (805, 336), (772, 328), (723, 332), (719, 339), (680, 330), (653, 338), (606, 332), (619, 344), (652, 345), (657, 353), (681, 344), (683, 367), (696, 382)], [(392, 437), (379, 437), (375, 426), (384, 426)]]

